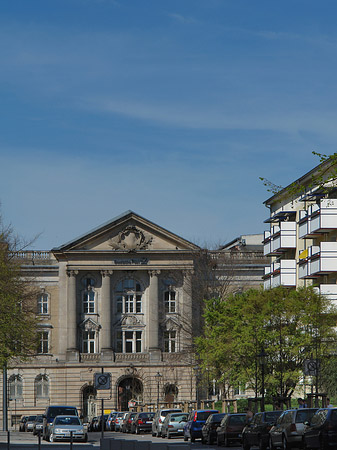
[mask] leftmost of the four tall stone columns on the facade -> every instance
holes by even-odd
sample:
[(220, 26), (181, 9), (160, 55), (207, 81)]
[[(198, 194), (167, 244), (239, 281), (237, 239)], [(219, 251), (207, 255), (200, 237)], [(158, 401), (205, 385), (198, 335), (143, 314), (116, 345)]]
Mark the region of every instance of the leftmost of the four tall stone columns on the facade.
[(78, 270), (68, 270), (68, 302), (67, 302), (67, 359), (78, 360), (77, 348), (77, 296), (76, 276)]

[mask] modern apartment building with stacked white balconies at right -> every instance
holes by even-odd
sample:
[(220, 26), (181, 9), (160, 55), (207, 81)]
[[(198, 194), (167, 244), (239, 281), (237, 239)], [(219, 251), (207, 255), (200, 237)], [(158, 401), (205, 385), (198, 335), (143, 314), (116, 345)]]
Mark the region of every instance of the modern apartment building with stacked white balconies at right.
[(264, 254), (271, 257), (266, 289), (313, 285), (337, 300), (337, 189), (332, 174), (325, 161), (265, 201), (270, 214)]

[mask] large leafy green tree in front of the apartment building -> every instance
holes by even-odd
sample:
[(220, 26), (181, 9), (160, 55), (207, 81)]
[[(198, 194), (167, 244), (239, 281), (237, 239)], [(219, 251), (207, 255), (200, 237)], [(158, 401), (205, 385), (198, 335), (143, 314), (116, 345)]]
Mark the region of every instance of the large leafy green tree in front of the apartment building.
[(263, 350), (267, 392), (290, 396), (304, 360), (328, 355), (336, 338), (334, 309), (313, 288), (251, 289), (211, 299), (204, 320), (204, 333), (196, 340), (202, 367), (227, 391), (241, 382), (260, 393)]

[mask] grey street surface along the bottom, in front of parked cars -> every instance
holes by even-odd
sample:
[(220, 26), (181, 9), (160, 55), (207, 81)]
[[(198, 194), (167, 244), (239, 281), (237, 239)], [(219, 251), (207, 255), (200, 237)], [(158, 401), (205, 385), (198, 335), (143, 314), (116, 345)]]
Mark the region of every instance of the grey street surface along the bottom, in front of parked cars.
[[(163, 439), (163, 438), (157, 438), (152, 437), (150, 433), (136, 435), (136, 434), (126, 434), (126, 433), (116, 433), (107, 431), (104, 433), (105, 438), (115, 438), (115, 439), (128, 439), (128, 440), (137, 440), (137, 441), (151, 441), (153, 443), (163, 443), (165, 446), (167, 444), (174, 445), (179, 443), (182, 447), (184, 445), (187, 445), (187, 443), (184, 442), (182, 437), (177, 438), (171, 438), (171, 439)], [(73, 443), (73, 449), (78, 450), (92, 450), (92, 449), (98, 449), (100, 446), (100, 439), (101, 439), (101, 433), (88, 433), (88, 442), (82, 443), (82, 442), (76, 442)], [(13, 431), (10, 433), (10, 448), (13, 450), (34, 450), (38, 449), (38, 438), (37, 436), (33, 436), (32, 433), (19, 433), (18, 431)], [(193, 444), (189, 442), (191, 446), (193, 446), (195, 449), (219, 449), (217, 445), (207, 446), (201, 444), (201, 441), (197, 441)], [(69, 450), (70, 443), (69, 442), (60, 442), (60, 443), (50, 443), (41, 441), (41, 450), (51, 450), (51, 448), (54, 448), (56, 450)], [(221, 449), (224, 449), (225, 447), (221, 447)], [(231, 450), (241, 450), (241, 446), (235, 446), (230, 447)], [(0, 432), (0, 450), (7, 450), (7, 433)]]

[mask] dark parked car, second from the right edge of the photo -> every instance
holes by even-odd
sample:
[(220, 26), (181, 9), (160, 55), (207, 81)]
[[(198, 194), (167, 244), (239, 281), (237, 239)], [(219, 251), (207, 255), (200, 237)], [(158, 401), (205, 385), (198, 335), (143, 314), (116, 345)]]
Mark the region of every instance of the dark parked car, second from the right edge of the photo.
[(277, 419), (276, 424), (269, 431), (269, 447), (274, 450), (282, 447), (302, 447), (304, 422), (310, 422), (318, 408), (288, 409)]

